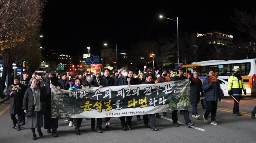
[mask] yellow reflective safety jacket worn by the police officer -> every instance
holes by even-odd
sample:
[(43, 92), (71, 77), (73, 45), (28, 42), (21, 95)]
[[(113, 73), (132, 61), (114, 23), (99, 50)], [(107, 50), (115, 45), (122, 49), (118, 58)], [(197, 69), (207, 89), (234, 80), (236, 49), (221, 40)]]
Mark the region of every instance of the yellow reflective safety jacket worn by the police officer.
[(245, 89), (243, 79), (240, 80), (234, 75), (230, 76), (228, 87), (232, 91), (233, 96), (241, 96), (242, 89)]

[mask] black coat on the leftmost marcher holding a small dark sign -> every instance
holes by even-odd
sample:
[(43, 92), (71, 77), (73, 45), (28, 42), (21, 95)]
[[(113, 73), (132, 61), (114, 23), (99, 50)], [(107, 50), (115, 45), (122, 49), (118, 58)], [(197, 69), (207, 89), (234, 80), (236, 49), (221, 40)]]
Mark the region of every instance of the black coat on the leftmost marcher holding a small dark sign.
[[(24, 94), (26, 92), (27, 86), (19, 83), (19, 87), (21, 87), (21, 90), (14, 90), (12, 92), (11, 86), (7, 89), (7, 95), (10, 97), (10, 114), (21, 114), (22, 111), (22, 103)], [(10, 93), (12, 92), (12, 95), (10, 96)]]

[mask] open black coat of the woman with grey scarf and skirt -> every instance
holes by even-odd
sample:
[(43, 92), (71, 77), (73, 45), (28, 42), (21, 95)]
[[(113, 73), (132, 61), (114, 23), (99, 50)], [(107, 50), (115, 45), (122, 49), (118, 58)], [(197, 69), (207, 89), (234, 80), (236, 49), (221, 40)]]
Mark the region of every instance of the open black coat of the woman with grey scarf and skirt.
[[(44, 94), (43, 94), (43, 90), (42, 89), (40, 89), (40, 90), (41, 90), (40, 101), (42, 103)], [(33, 91), (30, 87), (27, 88), (27, 90), (25, 92), (22, 109), (23, 109), (23, 111), (25, 109), (27, 110), (26, 117), (31, 117), (33, 115), (34, 110), (35, 110)]]

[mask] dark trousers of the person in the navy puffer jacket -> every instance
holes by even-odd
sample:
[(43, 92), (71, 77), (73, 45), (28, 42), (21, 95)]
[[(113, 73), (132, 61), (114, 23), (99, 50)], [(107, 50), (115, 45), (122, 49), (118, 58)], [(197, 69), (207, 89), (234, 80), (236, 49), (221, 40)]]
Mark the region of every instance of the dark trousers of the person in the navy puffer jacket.
[(208, 118), (211, 113), (211, 121), (215, 121), (218, 101), (206, 101), (207, 109), (205, 110), (204, 117)]

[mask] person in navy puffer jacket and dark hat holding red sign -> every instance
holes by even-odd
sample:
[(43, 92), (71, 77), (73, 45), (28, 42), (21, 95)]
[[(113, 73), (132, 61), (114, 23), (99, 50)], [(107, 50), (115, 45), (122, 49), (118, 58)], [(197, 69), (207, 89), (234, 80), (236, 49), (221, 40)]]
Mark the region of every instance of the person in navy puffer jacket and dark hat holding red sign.
[(207, 71), (208, 76), (203, 80), (202, 89), (204, 91), (204, 97), (207, 104), (207, 109), (203, 115), (204, 123), (208, 123), (208, 116), (211, 113), (211, 124), (218, 125), (216, 123), (216, 113), (217, 113), (217, 105), (218, 100), (221, 100), (221, 87), (218, 80), (216, 82), (211, 82), (210, 76), (214, 75), (213, 70)]

